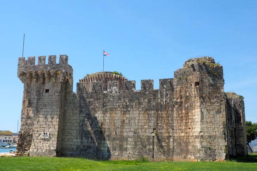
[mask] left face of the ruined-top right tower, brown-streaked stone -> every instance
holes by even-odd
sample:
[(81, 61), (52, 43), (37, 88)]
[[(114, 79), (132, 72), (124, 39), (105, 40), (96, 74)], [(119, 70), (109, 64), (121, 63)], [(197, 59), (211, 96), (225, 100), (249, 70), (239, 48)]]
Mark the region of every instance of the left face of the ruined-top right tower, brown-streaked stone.
[(198, 73), (192, 68), (174, 72), (174, 160), (200, 159), (199, 86), (194, 86)]

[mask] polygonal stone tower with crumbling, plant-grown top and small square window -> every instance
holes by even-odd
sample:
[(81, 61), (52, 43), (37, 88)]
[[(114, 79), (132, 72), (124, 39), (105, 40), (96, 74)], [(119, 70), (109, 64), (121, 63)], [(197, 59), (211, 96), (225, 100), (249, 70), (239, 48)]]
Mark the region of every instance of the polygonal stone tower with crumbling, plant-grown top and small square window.
[[(174, 72), (174, 158), (224, 160), (226, 113), (222, 66), (213, 58), (189, 59)], [(221, 144), (222, 143), (222, 144)], [(183, 160), (182, 159), (182, 160)]]

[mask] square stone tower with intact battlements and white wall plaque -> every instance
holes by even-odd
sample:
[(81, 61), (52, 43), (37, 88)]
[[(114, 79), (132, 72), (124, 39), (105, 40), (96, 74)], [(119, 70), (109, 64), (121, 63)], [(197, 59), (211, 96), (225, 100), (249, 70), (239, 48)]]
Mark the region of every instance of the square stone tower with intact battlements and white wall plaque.
[[(24, 155), (56, 156), (61, 150), (61, 122), (67, 94), (73, 89), (73, 69), (68, 56), (35, 56), (19, 58), (17, 76), (24, 83), (21, 129), (17, 151)], [(49, 133), (51, 134), (49, 135)]]

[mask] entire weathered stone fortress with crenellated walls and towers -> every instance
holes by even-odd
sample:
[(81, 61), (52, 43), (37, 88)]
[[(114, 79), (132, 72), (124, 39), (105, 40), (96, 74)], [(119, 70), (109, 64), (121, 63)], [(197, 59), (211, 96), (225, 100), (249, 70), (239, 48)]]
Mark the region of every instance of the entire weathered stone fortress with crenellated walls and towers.
[(174, 78), (135, 81), (87, 74), (73, 92), (68, 56), (20, 57), (24, 83), (17, 155), (101, 160), (222, 161), (246, 156), (244, 101), (224, 93), (211, 57), (187, 60)]

